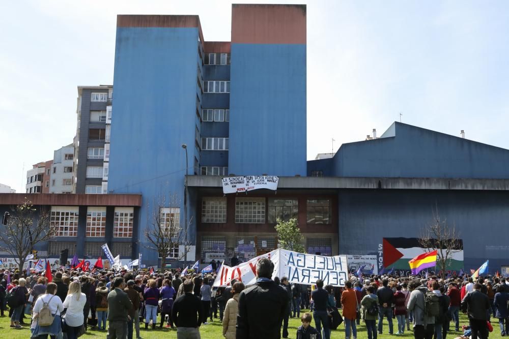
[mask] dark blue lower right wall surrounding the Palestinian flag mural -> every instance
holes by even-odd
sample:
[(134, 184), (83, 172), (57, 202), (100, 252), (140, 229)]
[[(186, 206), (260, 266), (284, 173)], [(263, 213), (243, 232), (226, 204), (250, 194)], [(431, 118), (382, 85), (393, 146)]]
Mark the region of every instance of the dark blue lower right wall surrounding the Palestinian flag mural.
[(490, 259), (490, 272), (509, 265), (509, 196), (499, 191), (343, 190), (338, 194), (339, 252), (375, 254), (384, 237), (419, 237), (434, 221), (455, 225), (466, 271)]

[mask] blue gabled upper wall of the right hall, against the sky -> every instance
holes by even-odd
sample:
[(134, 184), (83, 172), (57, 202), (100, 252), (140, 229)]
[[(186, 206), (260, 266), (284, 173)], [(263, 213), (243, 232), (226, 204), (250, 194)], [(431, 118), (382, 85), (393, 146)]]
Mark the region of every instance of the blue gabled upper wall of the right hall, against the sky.
[(384, 135), (395, 136), (343, 144), (334, 156), (334, 175), (509, 178), (507, 149), (400, 122)]

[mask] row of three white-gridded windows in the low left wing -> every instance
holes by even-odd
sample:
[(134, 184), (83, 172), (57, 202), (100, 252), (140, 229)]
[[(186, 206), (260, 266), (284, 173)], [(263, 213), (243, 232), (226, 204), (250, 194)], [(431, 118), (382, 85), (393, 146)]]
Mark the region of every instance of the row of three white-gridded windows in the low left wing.
[[(78, 236), (78, 207), (51, 207), (51, 226), (56, 227), (56, 236)], [(132, 237), (133, 207), (115, 207), (113, 236)], [(106, 207), (88, 207), (85, 234), (88, 237), (104, 237), (106, 232)]]

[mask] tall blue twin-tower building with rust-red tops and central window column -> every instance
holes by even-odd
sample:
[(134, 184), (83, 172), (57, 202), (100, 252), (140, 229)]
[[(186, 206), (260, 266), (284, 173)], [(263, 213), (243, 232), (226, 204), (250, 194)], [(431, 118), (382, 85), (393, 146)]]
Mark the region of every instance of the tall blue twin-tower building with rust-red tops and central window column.
[(233, 5), (232, 42), (208, 42), (198, 16), (117, 17), (108, 192), (141, 193), (141, 225), (176, 196), (164, 207), (191, 222), (188, 261), (200, 207), (191, 192), (184, 215), (185, 174), (306, 175), (305, 24), (303, 5)]

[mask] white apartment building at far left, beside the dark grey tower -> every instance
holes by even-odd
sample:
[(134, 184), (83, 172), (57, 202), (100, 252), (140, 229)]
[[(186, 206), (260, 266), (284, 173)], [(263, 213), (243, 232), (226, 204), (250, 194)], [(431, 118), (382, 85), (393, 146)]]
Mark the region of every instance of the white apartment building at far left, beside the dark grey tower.
[(63, 146), (53, 153), (49, 193), (72, 193), (74, 172), (74, 144)]

